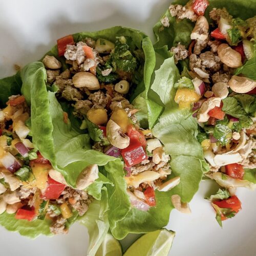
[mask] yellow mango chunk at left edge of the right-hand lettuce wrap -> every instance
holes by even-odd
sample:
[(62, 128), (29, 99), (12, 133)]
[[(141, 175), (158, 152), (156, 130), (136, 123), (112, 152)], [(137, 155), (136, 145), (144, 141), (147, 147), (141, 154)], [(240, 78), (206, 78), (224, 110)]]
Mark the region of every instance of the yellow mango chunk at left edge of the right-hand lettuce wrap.
[(198, 101), (200, 97), (195, 91), (183, 88), (177, 90), (174, 100), (181, 109), (186, 109), (190, 108), (191, 103)]

